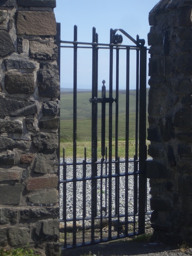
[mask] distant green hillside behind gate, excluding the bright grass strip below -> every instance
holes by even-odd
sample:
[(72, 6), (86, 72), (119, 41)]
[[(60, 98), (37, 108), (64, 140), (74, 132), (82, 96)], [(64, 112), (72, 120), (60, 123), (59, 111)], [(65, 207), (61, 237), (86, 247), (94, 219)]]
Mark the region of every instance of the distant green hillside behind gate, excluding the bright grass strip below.
[[(148, 89), (147, 89), (148, 95)], [(88, 141), (91, 139), (91, 92), (78, 92), (77, 94), (77, 139), (80, 141)], [(101, 97), (101, 92), (98, 93)], [(108, 97), (108, 96), (107, 96)], [(115, 98), (115, 94), (113, 96)], [(129, 137), (135, 137), (135, 108), (136, 108), (136, 91), (130, 91), (130, 130)], [(60, 137), (61, 140), (72, 141), (73, 138), (73, 93), (64, 92), (60, 95), (61, 111), (60, 111)], [(119, 124), (118, 135), (119, 140), (125, 138), (125, 91), (119, 93)], [(109, 104), (106, 104), (106, 137), (108, 137), (108, 120), (109, 120)], [(101, 134), (101, 104), (98, 103), (98, 140)], [(113, 103), (113, 135), (115, 135), (115, 102)]]

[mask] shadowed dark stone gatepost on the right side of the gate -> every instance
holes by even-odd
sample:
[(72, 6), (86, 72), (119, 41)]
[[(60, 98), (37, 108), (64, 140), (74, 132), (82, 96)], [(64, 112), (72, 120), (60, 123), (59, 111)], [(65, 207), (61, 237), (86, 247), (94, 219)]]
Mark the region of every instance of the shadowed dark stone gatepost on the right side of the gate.
[(192, 1), (161, 0), (150, 12), (148, 154), (152, 227), (192, 244)]

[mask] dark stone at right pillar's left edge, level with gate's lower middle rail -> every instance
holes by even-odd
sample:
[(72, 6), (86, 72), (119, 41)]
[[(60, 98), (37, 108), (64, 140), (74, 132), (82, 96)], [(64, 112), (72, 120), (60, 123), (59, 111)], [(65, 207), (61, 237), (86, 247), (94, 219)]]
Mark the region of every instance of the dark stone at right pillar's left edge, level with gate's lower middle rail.
[(170, 179), (170, 170), (164, 163), (157, 161), (147, 161), (147, 178)]

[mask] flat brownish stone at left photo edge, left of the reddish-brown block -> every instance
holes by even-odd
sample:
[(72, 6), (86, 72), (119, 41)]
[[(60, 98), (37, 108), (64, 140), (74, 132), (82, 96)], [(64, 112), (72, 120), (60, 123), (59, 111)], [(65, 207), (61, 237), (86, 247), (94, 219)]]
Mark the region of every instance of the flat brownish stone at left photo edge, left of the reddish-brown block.
[(0, 170), (0, 181), (20, 181), (21, 177), (22, 172), (17, 170), (16, 167)]

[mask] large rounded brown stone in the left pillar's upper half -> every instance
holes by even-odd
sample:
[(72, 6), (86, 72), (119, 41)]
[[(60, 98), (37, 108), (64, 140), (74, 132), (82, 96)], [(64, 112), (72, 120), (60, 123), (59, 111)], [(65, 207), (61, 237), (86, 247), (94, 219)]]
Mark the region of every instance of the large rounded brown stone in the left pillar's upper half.
[(5, 75), (5, 88), (9, 94), (32, 94), (35, 91), (34, 74), (8, 73)]

